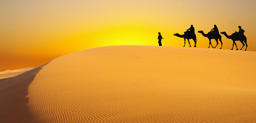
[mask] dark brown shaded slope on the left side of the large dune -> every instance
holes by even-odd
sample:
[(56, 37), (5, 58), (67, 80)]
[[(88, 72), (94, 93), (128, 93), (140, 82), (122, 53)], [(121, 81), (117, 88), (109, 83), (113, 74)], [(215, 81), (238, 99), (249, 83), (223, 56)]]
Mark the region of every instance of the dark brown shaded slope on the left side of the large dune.
[[(40, 123), (31, 113), (28, 105), (28, 86), (42, 69), (42, 65), (33, 70), (25, 68), (16, 72), (25, 72), (16, 77), (0, 79), (0, 123)], [(27, 72), (26, 72), (27, 71)]]

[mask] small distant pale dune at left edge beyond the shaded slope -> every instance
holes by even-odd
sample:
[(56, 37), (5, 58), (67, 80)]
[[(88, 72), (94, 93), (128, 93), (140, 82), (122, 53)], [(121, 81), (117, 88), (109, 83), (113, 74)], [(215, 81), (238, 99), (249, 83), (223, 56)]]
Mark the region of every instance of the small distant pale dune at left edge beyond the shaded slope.
[(3, 71), (3, 72), (0, 72), (0, 79), (15, 77), (19, 74), (22, 74), (26, 71), (30, 71), (34, 68), (35, 67), (22, 68), (22, 69), (17, 69), (17, 70), (6, 70), (6, 71)]

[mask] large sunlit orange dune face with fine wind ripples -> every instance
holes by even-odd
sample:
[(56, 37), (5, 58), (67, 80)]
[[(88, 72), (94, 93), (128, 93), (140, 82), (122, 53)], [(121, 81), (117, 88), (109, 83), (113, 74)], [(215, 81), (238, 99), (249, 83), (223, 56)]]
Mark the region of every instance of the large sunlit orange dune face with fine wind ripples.
[(58, 57), (29, 86), (45, 123), (255, 123), (256, 52), (118, 45)]

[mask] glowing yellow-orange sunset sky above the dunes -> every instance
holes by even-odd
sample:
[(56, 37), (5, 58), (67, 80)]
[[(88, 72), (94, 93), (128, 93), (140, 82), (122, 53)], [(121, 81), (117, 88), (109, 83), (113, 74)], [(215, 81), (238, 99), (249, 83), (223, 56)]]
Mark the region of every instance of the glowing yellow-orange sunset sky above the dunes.
[[(256, 0), (0, 0), (0, 71), (39, 67), (100, 46), (158, 46), (158, 32), (163, 46), (183, 46), (184, 39), (173, 34), (184, 34), (190, 25), (197, 48), (209, 46), (197, 31), (217, 25), (231, 35), (241, 26), (247, 51), (255, 52), (255, 5)], [(222, 49), (231, 49), (232, 40), (221, 36)]]

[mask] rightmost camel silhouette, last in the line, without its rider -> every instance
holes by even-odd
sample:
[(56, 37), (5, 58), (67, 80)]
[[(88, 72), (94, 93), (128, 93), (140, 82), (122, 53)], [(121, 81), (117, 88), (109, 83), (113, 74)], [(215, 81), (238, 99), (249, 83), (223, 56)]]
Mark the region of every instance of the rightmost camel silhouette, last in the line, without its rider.
[[(236, 34), (233, 33), (231, 36), (228, 36), (228, 34), (225, 31), (221, 32), (221, 34), (224, 34), (228, 39), (231, 39), (233, 41), (233, 46), (232, 46), (231, 50), (233, 50), (234, 44), (237, 47), (237, 44), (235, 43), (235, 41), (240, 41), (243, 44), (243, 46), (245, 46), (245, 44), (246, 44), (246, 48), (245, 48), (245, 51), (246, 51), (248, 45), (247, 45), (247, 38), (244, 35), (236, 36)], [(245, 42), (245, 44), (243, 42)], [(242, 48), (243, 48), (243, 46), (242, 46)], [(237, 50), (238, 50), (238, 48), (237, 48)]]

